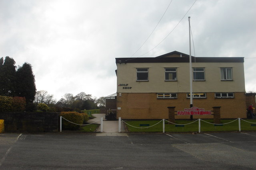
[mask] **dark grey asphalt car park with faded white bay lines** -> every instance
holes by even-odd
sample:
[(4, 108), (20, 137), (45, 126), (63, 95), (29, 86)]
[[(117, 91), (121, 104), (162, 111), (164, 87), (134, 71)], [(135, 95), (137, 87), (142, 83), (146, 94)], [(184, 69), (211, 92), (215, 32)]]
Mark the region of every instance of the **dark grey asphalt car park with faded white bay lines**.
[(0, 169), (256, 169), (256, 133), (0, 134)]

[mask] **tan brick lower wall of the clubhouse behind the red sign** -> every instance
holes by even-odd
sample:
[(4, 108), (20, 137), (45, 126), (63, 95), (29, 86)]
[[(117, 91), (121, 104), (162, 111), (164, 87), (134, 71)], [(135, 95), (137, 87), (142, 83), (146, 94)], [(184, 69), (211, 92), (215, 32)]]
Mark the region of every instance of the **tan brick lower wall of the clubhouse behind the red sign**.
[[(157, 99), (156, 93), (122, 93), (117, 96), (117, 117), (122, 119), (168, 119), (168, 108), (175, 111), (190, 107), (186, 93), (178, 93), (177, 99)], [(234, 98), (215, 98), (214, 93), (207, 93), (207, 98), (193, 99), (193, 106), (212, 111), (220, 106), (221, 118), (246, 118), (246, 96), (244, 92), (235, 92)], [(176, 115), (175, 119), (189, 119), (190, 115)], [(194, 119), (212, 119), (213, 115), (194, 115)]]

